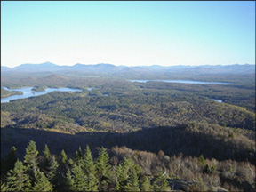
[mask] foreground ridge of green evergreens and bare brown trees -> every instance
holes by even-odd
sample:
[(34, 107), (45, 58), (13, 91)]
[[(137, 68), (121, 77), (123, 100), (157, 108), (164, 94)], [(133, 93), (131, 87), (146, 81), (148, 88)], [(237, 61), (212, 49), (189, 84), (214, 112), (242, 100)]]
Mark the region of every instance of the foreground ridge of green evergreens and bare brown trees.
[[(93, 158), (87, 145), (74, 157), (64, 149), (52, 155), (45, 144), (39, 153), (30, 140), (20, 160), (12, 147), (1, 160), (1, 191), (253, 191), (255, 166), (248, 162), (204, 159), (204, 156), (165, 156), (117, 146), (97, 148)], [(110, 156), (109, 156), (110, 154)], [(7, 172), (7, 174), (6, 174)], [(182, 180), (180, 179), (182, 178)], [(190, 180), (190, 181), (186, 181)], [(221, 186), (225, 188), (221, 188)]]

